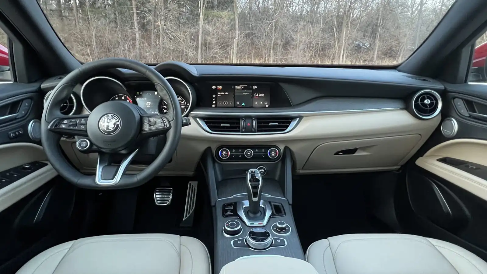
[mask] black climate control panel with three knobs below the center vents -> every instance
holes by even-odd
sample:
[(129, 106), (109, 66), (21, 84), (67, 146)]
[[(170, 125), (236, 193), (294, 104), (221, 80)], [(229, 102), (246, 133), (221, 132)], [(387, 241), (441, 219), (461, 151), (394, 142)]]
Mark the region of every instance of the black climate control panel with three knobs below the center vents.
[(281, 149), (275, 145), (230, 145), (215, 150), (221, 162), (275, 162), (281, 158)]

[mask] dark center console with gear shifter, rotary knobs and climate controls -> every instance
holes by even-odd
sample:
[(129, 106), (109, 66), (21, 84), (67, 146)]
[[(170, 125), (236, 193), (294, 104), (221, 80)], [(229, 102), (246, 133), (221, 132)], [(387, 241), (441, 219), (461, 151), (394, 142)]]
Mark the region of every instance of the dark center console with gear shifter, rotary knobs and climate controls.
[(304, 260), (290, 206), (291, 155), (287, 150), (275, 145), (228, 145), (204, 157), (214, 202), (215, 273), (246, 256)]

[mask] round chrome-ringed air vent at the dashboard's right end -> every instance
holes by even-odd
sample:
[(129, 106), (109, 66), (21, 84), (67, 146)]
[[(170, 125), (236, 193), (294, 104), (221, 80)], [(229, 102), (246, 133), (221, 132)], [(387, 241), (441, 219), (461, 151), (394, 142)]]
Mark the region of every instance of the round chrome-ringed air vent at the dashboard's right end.
[(436, 117), (441, 111), (441, 96), (432, 90), (422, 90), (412, 98), (412, 110), (422, 119)]

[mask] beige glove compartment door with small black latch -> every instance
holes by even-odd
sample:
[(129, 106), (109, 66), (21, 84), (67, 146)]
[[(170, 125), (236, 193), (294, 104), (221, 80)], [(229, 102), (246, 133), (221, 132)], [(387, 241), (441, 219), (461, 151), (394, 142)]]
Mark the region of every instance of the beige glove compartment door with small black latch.
[(403, 164), (421, 140), (419, 134), (329, 142), (319, 145), (304, 170), (386, 168)]

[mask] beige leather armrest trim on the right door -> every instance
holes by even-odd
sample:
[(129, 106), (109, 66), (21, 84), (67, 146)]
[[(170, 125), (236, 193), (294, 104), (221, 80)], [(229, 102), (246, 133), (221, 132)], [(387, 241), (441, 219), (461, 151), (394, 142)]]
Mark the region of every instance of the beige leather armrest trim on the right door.
[(416, 160), (416, 165), (487, 200), (486, 180), (437, 161), (442, 157), (452, 157), (487, 166), (487, 141), (450, 140), (431, 148), (423, 157)]

